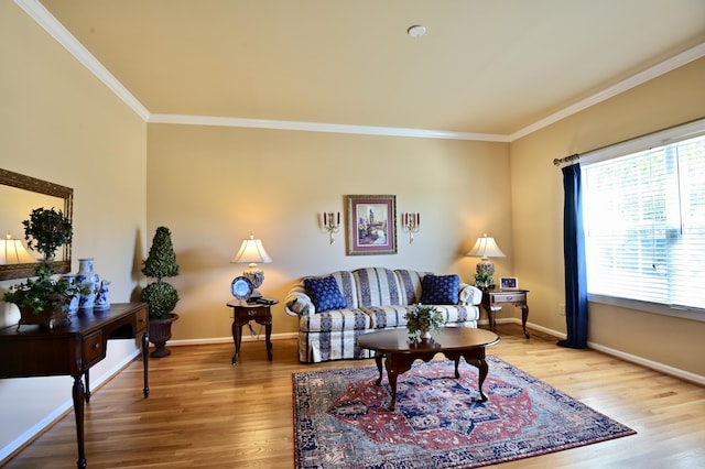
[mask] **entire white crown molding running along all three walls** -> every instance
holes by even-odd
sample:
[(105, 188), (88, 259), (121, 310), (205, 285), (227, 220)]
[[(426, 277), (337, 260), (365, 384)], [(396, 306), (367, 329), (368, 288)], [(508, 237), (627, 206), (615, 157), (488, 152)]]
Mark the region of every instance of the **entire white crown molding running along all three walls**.
[(596, 92), (575, 105), (568, 106), (523, 129), (508, 135), (492, 133), (456, 132), (449, 130), (405, 129), (373, 126), (348, 126), (337, 123), (296, 122), (268, 119), (221, 118), (209, 116), (153, 114), (124, 87), (73, 34), (54, 18), (39, 0), (14, 0), (52, 37), (63, 45), (76, 59), (102, 81), (118, 98), (130, 107), (142, 120), (150, 123), (175, 123), (189, 126), (241, 127), (251, 129), (295, 130), (307, 132), (352, 133), (365, 135), (412, 137), (422, 139), (474, 140), (488, 142), (513, 142), (568, 116), (612, 98), (646, 81), (705, 56), (705, 43), (701, 43), (674, 57), (633, 75), (609, 88)]

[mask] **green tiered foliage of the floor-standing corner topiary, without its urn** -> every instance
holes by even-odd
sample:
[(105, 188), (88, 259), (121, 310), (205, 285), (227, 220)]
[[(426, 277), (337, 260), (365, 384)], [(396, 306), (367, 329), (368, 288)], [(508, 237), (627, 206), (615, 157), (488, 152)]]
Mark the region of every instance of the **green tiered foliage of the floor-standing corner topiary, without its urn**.
[(152, 247), (142, 266), (142, 273), (156, 279), (147, 285), (140, 294), (140, 299), (150, 305), (150, 319), (166, 319), (176, 307), (178, 293), (164, 277), (178, 275), (176, 253), (172, 243), (172, 233), (166, 227), (156, 228)]

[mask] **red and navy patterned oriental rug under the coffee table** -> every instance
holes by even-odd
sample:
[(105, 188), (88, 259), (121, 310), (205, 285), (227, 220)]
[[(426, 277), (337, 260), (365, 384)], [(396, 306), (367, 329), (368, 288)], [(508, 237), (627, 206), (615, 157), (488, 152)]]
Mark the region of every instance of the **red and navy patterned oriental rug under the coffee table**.
[(293, 374), (295, 463), (304, 468), (475, 468), (611, 438), (631, 428), (501, 359), (487, 357), (479, 401), (477, 369), (460, 360), (416, 362), (387, 407), (377, 367)]

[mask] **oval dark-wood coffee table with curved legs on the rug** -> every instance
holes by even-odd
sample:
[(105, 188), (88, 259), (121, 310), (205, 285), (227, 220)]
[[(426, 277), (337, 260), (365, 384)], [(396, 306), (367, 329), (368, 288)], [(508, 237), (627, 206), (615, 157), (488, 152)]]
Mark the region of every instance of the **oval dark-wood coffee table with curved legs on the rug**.
[(376, 330), (357, 338), (357, 345), (375, 350), (375, 361), (379, 370), (377, 385), (382, 382), (382, 359), (387, 367), (387, 379), (392, 389), (392, 400), (389, 410), (397, 406), (397, 377), (411, 370), (411, 364), (416, 359), (430, 361), (436, 353), (443, 353), (448, 360), (455, 361), (455, 378), (460, 378), (458, 362), (460, 357), (479, 370), (480, 397), (482, 402), (487, 396), (482, 392), (482, 383), (487, 378), (487, 362), (485, 361), (485, 348), (499, 342), (499, 336), (485, 329), (471, 327), (442, 327), (432, 334), (431, 339), (411, 341), (409, 331), (403, 329)]

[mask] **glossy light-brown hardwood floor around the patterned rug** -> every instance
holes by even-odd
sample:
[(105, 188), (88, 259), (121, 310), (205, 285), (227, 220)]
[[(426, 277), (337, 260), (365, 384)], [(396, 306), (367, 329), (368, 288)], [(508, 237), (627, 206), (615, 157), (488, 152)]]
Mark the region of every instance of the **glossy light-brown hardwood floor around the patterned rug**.
[[(499, 325), (489, 353), (630, 426), (634, 436), (500, 465), (502, 468), (705, 467), (705, 388), (593, 351), (555, 346), (516, 325)], [(130, 364), (86, 406), (89, 468), (293, 468), (292, 379), (297, 371), (367, 367), (373, 360), (303, 364), (296, 341), (171, 347), (150, 361), (150, 397), (142, 366)], [(491, 370), (490, 370), (491, 373)], [(6, 425), (7, 423), (3, 423)], [(73, 413), (8, 469), (76, 467)]]

